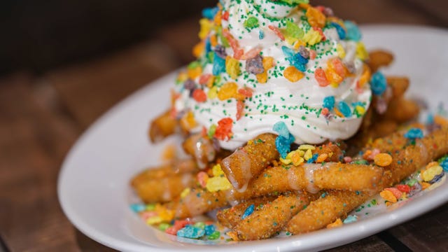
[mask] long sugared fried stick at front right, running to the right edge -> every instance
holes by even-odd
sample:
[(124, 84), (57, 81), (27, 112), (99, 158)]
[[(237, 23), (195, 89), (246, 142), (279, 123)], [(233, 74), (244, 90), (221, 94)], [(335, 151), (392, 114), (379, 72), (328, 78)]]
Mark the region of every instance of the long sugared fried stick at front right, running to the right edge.
[[(377, 147), (381, 150), (380, 145)], [(346, 190), (332, 191), (326, 197), (312, 202), (307, 209), (294, 216), (286, 229), (293, 234), (300, 234), (324, 228), (337, 218), (345, 216), (358, 205), (363, 204), (375, 193), (402, 181), (431, 160), (448, 153), (448, 126), (443, 126), (440, 130), (416, 141), (415, 145), (398, 144), (394, 150), (390, 152), (393, 161), (386, 167), (388, 170), (377, 190), (359, 194)]]

